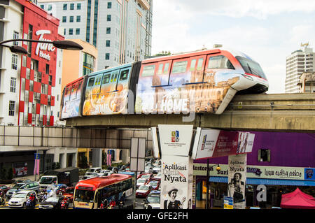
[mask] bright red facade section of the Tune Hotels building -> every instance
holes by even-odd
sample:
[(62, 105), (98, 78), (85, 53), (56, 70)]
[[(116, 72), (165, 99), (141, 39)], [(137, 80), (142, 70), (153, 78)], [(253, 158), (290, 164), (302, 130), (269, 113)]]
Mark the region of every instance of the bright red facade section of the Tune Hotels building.
[[(31, 1), (16, 0), (24, 6), (22, 38), (59, 41), (64, 37), (58, 34), (59, 20), (52, 17)], [(18, 125), (52, 126), (55, 107), (57, 52), (52, 44), (23, 42), (28, 54), (22, 55), (20, 72), (20, 99)]]

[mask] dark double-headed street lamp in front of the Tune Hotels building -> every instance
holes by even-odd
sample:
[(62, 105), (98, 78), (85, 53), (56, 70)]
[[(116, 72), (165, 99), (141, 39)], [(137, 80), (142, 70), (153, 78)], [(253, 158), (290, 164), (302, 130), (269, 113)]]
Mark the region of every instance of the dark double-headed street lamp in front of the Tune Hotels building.
[(37, 41), (37, 40), (32, 40), (32, 39), (15, 38), (15, 39), (9, 39), (7, 41), (2, 41), (0, 42), (0, 45), (10, 48), (11, 52), (27, 54), (27, 50), (20, 45), (5, 45), (4, 44), (8, 42), (15, 42), (15, 41), (25, 41), (25, 42), (32, 42), (32, 43), (50, 43), (56, 48), (63, 49), (63, 50), (83, 50), (83, 47), (80, 44), (73, 41)]

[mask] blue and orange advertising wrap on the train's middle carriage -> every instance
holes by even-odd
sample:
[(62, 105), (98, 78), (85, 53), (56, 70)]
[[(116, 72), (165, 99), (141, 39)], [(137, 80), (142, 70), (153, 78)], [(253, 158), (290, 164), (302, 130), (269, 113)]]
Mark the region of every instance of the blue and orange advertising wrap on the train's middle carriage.
[(127, 113), (130, 68), (94, 75), (87, 81), (83, 115)]

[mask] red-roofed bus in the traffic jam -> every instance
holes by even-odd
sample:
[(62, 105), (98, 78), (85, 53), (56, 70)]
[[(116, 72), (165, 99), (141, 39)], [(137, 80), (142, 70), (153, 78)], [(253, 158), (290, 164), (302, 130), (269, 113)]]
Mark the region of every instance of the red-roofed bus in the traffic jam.
[(103, 201), (118, 203), (132, 195), (132, 175), (113, 173), (106, 177), (81, 180), (75, 187), (73, 208), (97, 209)]

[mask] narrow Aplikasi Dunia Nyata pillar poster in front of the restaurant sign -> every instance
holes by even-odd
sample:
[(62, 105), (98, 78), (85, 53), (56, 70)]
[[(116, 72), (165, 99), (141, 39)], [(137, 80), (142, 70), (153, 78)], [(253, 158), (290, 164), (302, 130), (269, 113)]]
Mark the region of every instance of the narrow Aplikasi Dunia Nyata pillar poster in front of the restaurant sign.
[(246, 206), (246, 160), (247, 154), (229, 156), (228, 196), (233, 198), (234, 209), (244, 209)]

